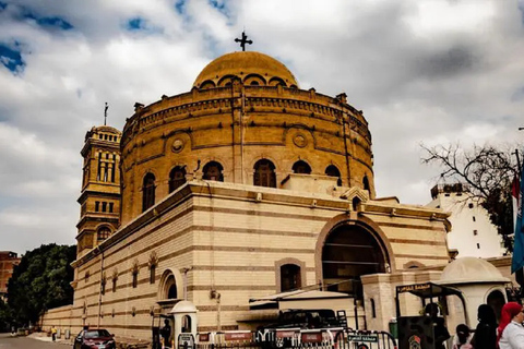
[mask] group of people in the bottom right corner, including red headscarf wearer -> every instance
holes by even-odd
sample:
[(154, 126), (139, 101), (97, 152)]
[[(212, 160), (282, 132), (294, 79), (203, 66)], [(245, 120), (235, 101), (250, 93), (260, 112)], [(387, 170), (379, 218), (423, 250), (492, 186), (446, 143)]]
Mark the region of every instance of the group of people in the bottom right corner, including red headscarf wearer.
[[(452, 349), (524, 349), (523, 322), (524, 309), (516, 302), (502, 306), (498, 325), (491, 306), (481, 304), (478, 308), (477, 327), (473, 332), (464, 324), (456, 326)], [(443, 344), (445, 336), (439, 338), (437, 327), (434, 329), (436, 344)], [(442, 334), (442, 329), (439, 329), (439, 333)]]

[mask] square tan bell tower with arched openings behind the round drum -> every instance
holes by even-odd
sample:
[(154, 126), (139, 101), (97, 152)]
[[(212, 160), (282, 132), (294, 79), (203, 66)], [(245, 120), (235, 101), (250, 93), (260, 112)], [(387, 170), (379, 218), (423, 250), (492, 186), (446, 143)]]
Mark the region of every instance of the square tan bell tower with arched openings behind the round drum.
[(120, 226), (120, 140), (121, 132), (103, 125), (85, 134), (82, 194), (76, 225), (80, 257), (109, 238)]

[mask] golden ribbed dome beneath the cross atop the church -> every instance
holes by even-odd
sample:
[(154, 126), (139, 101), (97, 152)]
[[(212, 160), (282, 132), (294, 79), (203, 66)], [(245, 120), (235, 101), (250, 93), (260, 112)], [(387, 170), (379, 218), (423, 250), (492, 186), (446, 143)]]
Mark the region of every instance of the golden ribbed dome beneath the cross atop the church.
[(260, 52), (227, 53), (209, 63), (194, 81), (198, 88), (227, 86), (231, 79), (246, 85), (283, 85), (298, 88), (291, 72), (276, 59)]

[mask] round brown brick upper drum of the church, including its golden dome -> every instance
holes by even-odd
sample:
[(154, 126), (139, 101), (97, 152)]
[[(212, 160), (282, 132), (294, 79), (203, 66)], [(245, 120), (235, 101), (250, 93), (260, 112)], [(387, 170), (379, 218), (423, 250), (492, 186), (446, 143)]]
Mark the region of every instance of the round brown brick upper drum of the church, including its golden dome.
[[(228, 79), (239, 80), (227, 85)], [(301, 173), (302, 167), (294, 166), (303, 160), (309, 173), (337, 173), (340, 185), (367, 186), (373, 197), (371, 135), (361, 112), (338, 97), (296, 86), (293, 74), (273, 58), (235, 52), (204, 68), (191, 92), (136, 105), (121, 142), (122, 224), (176, 188), (180, 179), (170, 179), (175, 167), (186, 173), (199, 168), (204, 179), (279, 188), (289, 173)], [(272, 164), (248, 166), (266, 154)], [(210, 163), (216, 166), (204, 171)], [(146, 190), (142, 178), (148, 172), (154, 180)]]

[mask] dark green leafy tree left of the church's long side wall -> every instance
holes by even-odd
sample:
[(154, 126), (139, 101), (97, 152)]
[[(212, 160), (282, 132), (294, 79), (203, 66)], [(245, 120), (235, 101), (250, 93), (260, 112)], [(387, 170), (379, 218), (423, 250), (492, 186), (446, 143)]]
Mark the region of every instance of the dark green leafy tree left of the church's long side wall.
[(74, 245), (46, 244), (28, 251), (8, 285), (8, 304), (20, 325), (35, 324), (46, 310), (71, 304)]

